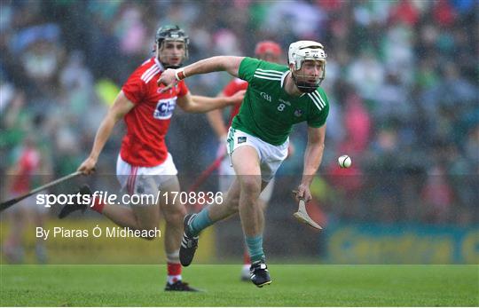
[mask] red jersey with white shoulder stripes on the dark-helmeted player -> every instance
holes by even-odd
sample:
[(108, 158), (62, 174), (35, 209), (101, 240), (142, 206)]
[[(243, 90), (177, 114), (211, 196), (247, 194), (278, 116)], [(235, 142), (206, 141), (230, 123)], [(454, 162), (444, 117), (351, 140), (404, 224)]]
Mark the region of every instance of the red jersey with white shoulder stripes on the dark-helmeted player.
[(165, 136), (177, 97), (188, 93), (185, 81), (177, 83), (171, 90), (160, 93), (158, 78), (164, 68), (155, 57), (138, 67), (122, 91), (135, 104), (125, 115), (127, 133), (122, 140), (122, 160), (137, 167), (154, 167), (164, 162), (168, 155)]

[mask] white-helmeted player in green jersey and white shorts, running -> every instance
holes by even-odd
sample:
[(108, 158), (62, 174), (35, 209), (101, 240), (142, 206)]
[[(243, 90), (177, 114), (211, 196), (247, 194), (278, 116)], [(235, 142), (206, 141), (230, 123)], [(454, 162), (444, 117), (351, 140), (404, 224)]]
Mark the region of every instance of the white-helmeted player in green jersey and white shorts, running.
[(326, 52), (321, 43), (291, 43), (288, 66), (245, 57), (213, 57), (168, 69), (158, 84), (168, 91), (185, 77), (217, 71), (226, 71), (249, 84), (228, 134), (228, 153), (237, 176), (223, 204), (185, 217), (180, 261), (185, 266), (192, 263), (201, 230), (240, 212), (252, 262), (250, 279), (263, 287), (271, 283), (271, 277), (263, 252), (264, 217), (258, 198), (287, 157), (293, 125), (307, 122), (308, 145), (296, 197), (311, 199), (310, 184), (322, 160), (329, 112), (326, 93), (319, 88), (326, 73)]

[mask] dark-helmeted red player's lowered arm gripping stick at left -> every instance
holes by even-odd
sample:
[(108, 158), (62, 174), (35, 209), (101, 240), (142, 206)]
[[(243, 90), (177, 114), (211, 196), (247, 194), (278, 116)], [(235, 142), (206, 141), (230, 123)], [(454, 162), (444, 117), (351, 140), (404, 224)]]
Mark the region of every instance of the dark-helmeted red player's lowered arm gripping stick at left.
[(80, 167), (78, 167), (78, 171), (82, 171), (84, 174), (91, 174), (94, 171), (95, 165), (98, 161), (98, 156), (103, 150), (106, 141), (108, 138), (110, 138), (112, 130), (114, 129), (114, 124), (122, 119), (122, 117), (126, 115), (134, 106), (135, 105), (130, 102), (130, 99), (127, 99), (123, 94), (123, 91), (120, 91), (116, 99), (114, 99), (114, 105), (110, 107), (108, 113), (105, 115), (103, 121), (98, 127), (90, 156), (84, 162), (82, 162)]

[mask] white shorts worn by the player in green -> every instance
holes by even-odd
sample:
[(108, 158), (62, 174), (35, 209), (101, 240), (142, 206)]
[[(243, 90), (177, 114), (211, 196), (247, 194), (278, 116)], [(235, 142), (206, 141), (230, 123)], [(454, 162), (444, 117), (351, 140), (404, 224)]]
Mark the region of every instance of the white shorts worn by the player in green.
[(281, 163), (287, 158), (289, 138), (280, 146), (273, 146), (260, 138), (249, 135), (244, 131), (230, 128), (228, 131), (228, 154), (230, 156), (240, 146), (253, 146), (260, 160), (261, 179), (270, 182)]

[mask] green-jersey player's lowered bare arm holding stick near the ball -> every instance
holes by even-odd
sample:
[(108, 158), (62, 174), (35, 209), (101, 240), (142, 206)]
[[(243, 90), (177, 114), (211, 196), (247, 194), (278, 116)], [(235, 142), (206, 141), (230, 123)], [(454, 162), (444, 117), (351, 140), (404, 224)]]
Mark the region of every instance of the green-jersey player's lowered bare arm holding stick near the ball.
[(296, 198), (311, 200), (310, 185), (316, 171), (323, 159), (325, 149), (326, 124), (319, 127), (308, 128), (308, 145), (304, 151), (304, 168), (302, 170), (301, 184), (298, 186)]

